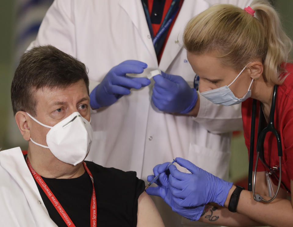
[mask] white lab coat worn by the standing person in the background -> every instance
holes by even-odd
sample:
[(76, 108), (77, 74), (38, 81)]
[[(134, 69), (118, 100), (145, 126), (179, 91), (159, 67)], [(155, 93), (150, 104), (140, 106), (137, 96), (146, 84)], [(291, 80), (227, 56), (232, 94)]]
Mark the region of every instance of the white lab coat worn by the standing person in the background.
[[(192, 89), (196, 74), (182, 46), (186, 23), (212, 4), (230, 3), (244, 8), (250, 2), (184, 0), (165, 46), (157, 54), (142, 1), (56, 0), (29, 48), (51, 44), (77, 57), (89, 68), (91, 90), (108, 79), (111, 68), (130, 59), (147, 63), (143, 73), (134, 77), (147, 77), (150, 71), (159, 69), (171, 77), (179, 75)], [(139, 89), (119, 95), (110, 106), (100, 105), (93, 110), (93, 143), (88, 159), (106, 167), (135, 170), (139, 178), (146, 180), (156, 164), (183, 157), (227, 179), (231, 135), (242, 129), (240, 106), (215, 105), (198, 95), (196, 108), (190, 113), (167, 113), (176, 111), (156, 107), (152, 91), (156, 83), (151, 80), (150, 85), (133, 86)], [(172, 94), (172, 90), (167, 92)], [(165, 106), (172, 106), (172, 102), (172, 99), (165, 101)], [(156, 205), (165, 225), (195, 225), (175, 213), (170, 215), (171, 210), (163, 201), (157, 201)]]

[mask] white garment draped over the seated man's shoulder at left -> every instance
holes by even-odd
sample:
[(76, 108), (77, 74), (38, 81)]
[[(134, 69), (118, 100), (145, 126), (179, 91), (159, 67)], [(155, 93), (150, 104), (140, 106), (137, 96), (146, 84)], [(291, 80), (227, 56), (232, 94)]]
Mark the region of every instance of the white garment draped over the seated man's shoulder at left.
[(57, 227), (20, 147), (0, 151), (0, 226)]

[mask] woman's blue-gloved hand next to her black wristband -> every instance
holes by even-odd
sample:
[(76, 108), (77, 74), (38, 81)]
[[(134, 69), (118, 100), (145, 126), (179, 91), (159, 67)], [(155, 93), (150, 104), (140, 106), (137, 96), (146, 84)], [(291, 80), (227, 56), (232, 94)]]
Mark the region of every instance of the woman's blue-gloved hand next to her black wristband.
[(169, 167), (169, 182), (173, 196), (177, 197), (174, 198), (176, 204), (194, 207), (214, 202), (224, 206), (233, 183), (224, 181), (183, 158), (176, 158), (176, 162), (191, 172), (180, 172), (174, 165)]

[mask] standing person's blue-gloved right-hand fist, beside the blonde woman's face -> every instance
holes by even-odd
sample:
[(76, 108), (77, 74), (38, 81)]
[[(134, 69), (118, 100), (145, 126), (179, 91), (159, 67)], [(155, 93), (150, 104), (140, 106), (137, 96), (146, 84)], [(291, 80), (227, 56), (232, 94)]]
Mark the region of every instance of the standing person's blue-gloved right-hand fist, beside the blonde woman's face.
[(195, 106), (197, 92), (182, 77), (162, 72), (162, 75), (153, 78), (155, 84), (152, 100), (159, 110), (187, 114)]

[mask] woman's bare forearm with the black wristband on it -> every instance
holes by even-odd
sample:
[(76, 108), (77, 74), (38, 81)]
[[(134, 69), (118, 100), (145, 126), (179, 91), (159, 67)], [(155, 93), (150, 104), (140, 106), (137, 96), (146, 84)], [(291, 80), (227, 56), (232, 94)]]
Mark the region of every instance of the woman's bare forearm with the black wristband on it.
[[(228, 207), (233, 186), (225, 201), (225, 207)], [(269, 200), (267, 196), (264, 199)], [(270, 203), (256, 202), (253, 199), (252, 192), (243, 190), (240, 194), (237, 205), (237, 213), (243, 214), (263, 225), (269, 226), (293, 226), (293, 208), (290, 200), (276, 198)]]

